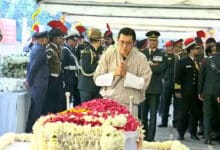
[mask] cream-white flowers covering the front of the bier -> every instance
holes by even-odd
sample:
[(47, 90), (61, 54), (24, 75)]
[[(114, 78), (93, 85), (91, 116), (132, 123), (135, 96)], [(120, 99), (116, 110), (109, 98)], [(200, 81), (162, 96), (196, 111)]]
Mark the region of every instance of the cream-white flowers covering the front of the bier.
[[(41, 117), (33, 127), (32, 150), (124, 150), (125, 135), (113, 126), (121, 125), (122, 121), (112, 121), (110, 117), (103, 126), (91, 127), (90, 125), (79, 126), (73, 123), (46, 123), (52, 117), (49, 115)], [(119, 116), (118, 119), (123, 119)], [(88, 119), (88, 118), (87, 118)], [(125, 120), (126, 121), (126, 120)]]

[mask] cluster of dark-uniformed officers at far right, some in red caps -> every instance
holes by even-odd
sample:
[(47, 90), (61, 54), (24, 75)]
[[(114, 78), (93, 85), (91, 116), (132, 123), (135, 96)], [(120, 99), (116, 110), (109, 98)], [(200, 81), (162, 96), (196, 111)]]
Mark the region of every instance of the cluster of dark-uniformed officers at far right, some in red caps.
[[(201, 32), (201, 31), (200, 31)], [(220, 44), (201, 37), (167, 41), (164, 55), (161, 124), (168, 127), (170, 104), (173, 104), (173, 127), (179, 140), (189, 132), (193, 140), (205, 138), (205, 144), (219, 141)]]

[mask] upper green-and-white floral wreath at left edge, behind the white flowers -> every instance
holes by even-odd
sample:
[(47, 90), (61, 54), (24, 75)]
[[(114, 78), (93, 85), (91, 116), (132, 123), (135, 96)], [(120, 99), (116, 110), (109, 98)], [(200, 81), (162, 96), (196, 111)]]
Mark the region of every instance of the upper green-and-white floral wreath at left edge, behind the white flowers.
[(11, 54), (0, 60), (0, 76), (8, 78), (25, 78), (29, 62), (28, 53)]

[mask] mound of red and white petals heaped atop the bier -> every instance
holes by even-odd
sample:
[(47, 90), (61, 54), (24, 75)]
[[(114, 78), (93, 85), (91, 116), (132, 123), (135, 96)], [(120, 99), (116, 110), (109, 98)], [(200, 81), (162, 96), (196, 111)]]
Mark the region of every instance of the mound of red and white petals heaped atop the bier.
[(47, 122), (69, 122), (77, 125), (101, 126), (108, 124), (124, 131), (136, 131), (140, 127), (127, 108), (109, 99), (95, 99), (80, 106), (61, 112)]

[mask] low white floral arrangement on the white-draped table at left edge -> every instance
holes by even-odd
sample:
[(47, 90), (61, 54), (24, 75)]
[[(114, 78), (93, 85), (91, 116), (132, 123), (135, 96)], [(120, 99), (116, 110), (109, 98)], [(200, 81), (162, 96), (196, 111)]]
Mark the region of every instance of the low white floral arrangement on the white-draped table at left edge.
[(0, 78), (0, 92), (25, 91), (24, 79)]

